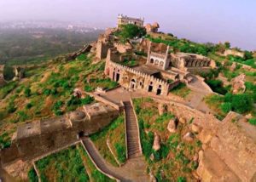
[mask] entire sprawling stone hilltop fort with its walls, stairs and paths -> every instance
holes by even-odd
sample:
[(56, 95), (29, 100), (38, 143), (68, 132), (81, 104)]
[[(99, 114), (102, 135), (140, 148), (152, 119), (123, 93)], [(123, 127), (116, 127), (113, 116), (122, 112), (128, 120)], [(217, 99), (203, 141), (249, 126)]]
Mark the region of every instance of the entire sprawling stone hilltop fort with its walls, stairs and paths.
[[(256, 136), (252, 132), (252, 126), (245, 122), (246, 118), (230, 111), (223, 120), (219, 120), (209, 110), (198, 109), (198, 102), (201, 102), (205, 95), (215, 93), (204, 79), (196, 74), (217, 69), (215, 61), (200, 54), (173, 52), (171, 46), (153, 43), (147, 37), (120, 43), (114, 32), (127, 24), (145, 28), (148, 33), (157, 33), (160, 28), (158, 23), (147, 24), (144, 27), (143, 19), (119, 14), (117, 28), (109, 28), (95, 43), (70, 54), (70, 58), (73, 59), (79, 54), (90, 53), (94, 60), (104, 62), (102, 76), (117, 82), (119, 87), (111, 90), (98, 88), (91, 93), (82, 92), (77, 88), (73, 93), (75, 97), (80, 98), (88, 94), (94, 97), (96, 102), (83, 105), (61, 117), (21, 124), (13, 135), (11, 146), (0, 151), (3, 166), (20, 159), (32, 161), (38, 156), (44, 156), (45, 153), (80, 141), (96, 168), (102, 173), (118, 180), (149, 181), (148, 174), (137, 170), (146, 168), (142, 157), (141, 128), (132, 100), (148, 98), (149, 95), (158, 104), (160, 116), (172, 113), (178, 122), (183, 121), (180, 124), (189, 130), (189, 134), (195, 135), (201, 142), (201, 150), (195, 160), (198, 162), (195, 179), (255, 181)], [(127, 64), (131, 60), (136, 64)], [(21, 79), (22, 74), (20, 68), (16, 68), (16, 79)], [(1, 82), (5, 82), (3, 66), (0, 66), (0, 85)], [(192, 105), (192, 101), (172, 98), (170, 92), (182, 82), (197, 94), (194, 99), (198, 105)], [(125, 145), (128, 160), (125, 165), (128, 167), (113, 168), (103, 161), (90, 139), (85, 137), (101, 131), (122, 112), (125, 113)], [(156, 136), (160, 140), (157, 134)], [(137, 168), (133, 168), (134, 166)], [(131, 171), (136, 175), (131, 175)], [(143, 177), (140, 178), (140, 175)], [(150, 176), (154, 175), (150, 172)], [(154, 181), (154, 178), (151, 181)]]

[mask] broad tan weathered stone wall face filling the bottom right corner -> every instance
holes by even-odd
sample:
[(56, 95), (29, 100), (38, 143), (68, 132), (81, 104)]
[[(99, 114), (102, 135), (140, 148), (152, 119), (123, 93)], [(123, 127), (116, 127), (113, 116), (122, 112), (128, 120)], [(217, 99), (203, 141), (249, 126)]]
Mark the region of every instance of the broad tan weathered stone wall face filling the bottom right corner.
[(254, 129), (243, 117), (230, 112), (220, 123), (211, 147), (241, 181), (256, 181), (255, 137), (249, 134)]

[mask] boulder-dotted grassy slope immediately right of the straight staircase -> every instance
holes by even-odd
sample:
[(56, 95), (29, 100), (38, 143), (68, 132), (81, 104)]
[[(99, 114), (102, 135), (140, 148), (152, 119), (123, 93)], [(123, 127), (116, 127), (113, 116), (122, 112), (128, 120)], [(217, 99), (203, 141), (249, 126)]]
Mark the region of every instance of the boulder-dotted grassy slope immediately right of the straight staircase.
[[(186, 181), (194, 179), (191, 172), (198, 163), (193, 156), (201, 149), (197, 139), (192, 143), (185, 142), (183, 135), (189, 131), (189, 123), (178, 124), (177, 133), (167, 130), (168, 122), (175, 117), (172, 113), (159, 115), (157, 103), (149, 98), (133, 100), (139, 122), (143, 155), (148, 162), (148, 172), (154, 173), (158, 181)], [(193, 119), (191, 119), (193, 122)], [(154, 132), (160, 135), (160, 151), (152, 149)]]

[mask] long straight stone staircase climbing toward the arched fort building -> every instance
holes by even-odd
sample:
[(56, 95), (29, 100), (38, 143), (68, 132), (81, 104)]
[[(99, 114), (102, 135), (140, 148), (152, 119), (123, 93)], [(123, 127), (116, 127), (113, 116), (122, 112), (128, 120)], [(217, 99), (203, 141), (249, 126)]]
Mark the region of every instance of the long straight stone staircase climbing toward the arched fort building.
[(131, 159), (136, 158), (137, 156), (141, 156), (142, 151), (139, 142), (139, 128), (137, 127), (137, 120), (133, 111), (133, 107), (130, 101), (125, 101), (124, 105), (128, 159)]

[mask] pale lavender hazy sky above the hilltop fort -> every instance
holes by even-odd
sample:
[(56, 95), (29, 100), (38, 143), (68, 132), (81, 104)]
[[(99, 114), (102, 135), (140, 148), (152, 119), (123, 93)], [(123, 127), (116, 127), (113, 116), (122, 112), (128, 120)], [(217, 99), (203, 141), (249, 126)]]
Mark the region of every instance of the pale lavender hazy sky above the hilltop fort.
[(0, 21), (82, 21), (99, 27), (115, 26), (118, 14), (141, 16), (177, 37), (256, 49), (256, 0), (0, 0), (0, 9)]

